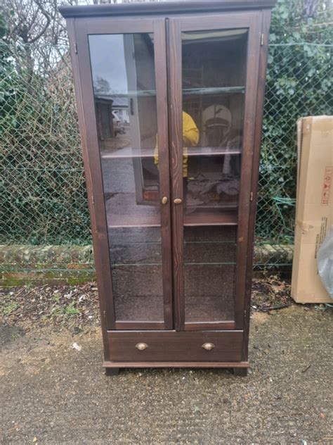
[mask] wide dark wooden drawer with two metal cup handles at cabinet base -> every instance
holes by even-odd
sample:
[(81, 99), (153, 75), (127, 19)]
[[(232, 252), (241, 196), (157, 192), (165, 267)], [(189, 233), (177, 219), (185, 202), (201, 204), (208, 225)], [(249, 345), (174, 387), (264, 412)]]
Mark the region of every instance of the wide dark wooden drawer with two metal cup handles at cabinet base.
[[(112, 362), (231, 362), (242, 358), (242, 331), (108, 331), (107, 336)], [(141, 350), (138, 344), (147, 346)], [(204, 344), (214, 347), (207, 350)]]

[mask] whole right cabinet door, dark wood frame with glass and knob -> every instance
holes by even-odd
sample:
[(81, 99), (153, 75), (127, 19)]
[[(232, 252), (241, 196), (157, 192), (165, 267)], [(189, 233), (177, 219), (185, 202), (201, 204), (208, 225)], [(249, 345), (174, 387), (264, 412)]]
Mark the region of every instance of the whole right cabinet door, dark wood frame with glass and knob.
[(175, 321), (242, 328), (259, 15), (170, 20)]

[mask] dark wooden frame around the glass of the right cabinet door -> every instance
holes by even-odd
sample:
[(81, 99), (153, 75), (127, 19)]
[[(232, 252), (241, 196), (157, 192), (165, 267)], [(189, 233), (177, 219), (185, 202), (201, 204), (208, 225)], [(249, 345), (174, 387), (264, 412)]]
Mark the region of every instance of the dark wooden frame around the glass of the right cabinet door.
[[(252, 168), (254, 152), (254, 127), (256, 122), (256, 91), (259, 75), (259, 49), (261, 42), (261, 11), (244, 13), (221, 13), (214, 15), (189, 15), (169, 18), (168, 73), (170, 106), (170, 165), (171, 165), (171, 222), (174, 278), (174, 324), (176, 330), (237, 329), (244, 327), (244, 296), (249, 277), (248, 241), (249, 214), (252, 199)], [(244, 124), (242, 143), (242, 170), (240, 201), (237, 224), (237, 255), (235, 273), (235, 320), (226, 322), (185, 323), (185, 295), (183, 282), (183, 144), (181, 129), (182, 75), (181, 75), (181, 32), (213, 29), (248, 28), (247, 75), (244, 101)], [(222, 289), (221, 289), (222, 291)]]

